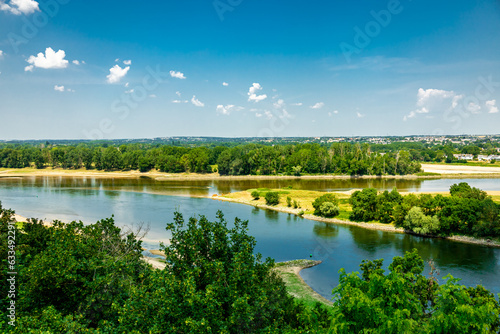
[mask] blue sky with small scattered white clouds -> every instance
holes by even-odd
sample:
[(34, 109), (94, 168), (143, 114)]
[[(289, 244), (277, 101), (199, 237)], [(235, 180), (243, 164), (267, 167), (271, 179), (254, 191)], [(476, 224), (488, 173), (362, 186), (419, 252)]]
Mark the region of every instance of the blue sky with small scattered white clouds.
[(0, 139), (500, 133), (500, 1), (0, 0)]

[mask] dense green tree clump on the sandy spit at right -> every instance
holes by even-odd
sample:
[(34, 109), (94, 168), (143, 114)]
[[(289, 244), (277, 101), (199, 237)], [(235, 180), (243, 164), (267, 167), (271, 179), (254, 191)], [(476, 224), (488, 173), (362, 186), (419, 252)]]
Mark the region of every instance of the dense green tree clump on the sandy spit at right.
[(395, 223), (419, 234), (500, 236), (500, 204), (466, 182), (450, 187), (450, 196), (408, 194), (396, 189), (377, 194), (373, 188), (351, 195), (351, 220)]

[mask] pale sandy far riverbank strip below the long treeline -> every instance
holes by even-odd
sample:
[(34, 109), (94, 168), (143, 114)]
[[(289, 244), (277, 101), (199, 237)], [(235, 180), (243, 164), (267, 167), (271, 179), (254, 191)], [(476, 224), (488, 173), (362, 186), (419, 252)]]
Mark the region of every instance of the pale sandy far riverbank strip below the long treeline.
[[(47, 167), (36, 168), (0, 168), (0, 178), (2, 177), (30, 177), (30, 176), (51, 176), (51, 177), (95, 177), (95, 178), (151, 178), (157, 181), (184, 180), (348, 180), (348, 179), (436, 179), (436, 178), (500, 178), (499, 167), (478, 167), (478, 166), (453, 166), (422, 164), (424, 173), (420, 175), (238, 175), (221, 176), (219, 173), (198, 174), (198, 173), (163, 173), (159, 171), (149, 171), (141, 173), (138, 170), (132, 171), (98, 171), (82, 169), (62, 169)], [(426, 175), (429, 173), (430, 175)]]

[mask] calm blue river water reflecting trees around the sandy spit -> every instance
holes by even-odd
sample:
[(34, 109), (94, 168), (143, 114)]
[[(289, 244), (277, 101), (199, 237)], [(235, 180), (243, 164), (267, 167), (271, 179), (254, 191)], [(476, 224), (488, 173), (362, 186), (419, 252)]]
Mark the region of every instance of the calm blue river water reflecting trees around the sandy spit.
[[(222, 210), (228, 222), (239, 217), (249, 220), (249, 233), (257, 240), (256, 251), (276, 261), (299, 258), (323, 263), (301, 272), (304, 280), (318, 293), (331, 298), (338, 284), (340, 268), (359, 271), (362, 260), (385, 259), (385, 268), (394, 256), (416, 248), (427, 262), (433, 259), (442, 277), (452, 274), (467, 286), (482, 284), (500, 293), (500, 249), (469, 245), (441, 239), (388, 233), (326, 224), (295, 215), (260, 210), (252, 206), (192, 196), (249, 188), (335, 190), (375, 187), (400, 191), (447, 191), (457, 182), (468, 182), (484, 190), (500, 190), (500, 179), (439, 180), (258, 180), (258, 181), (155, 181), (152, 179), (101, 179), (76, 177), (0, 178), (0, 201), (20, 215), (47, 220), (82, 220), (93, 223), (114, 215), (118, 226), (136, 226), (143, 222), (150, 231), (144, 246), (158, 249), (159, 242), (170, 237), (166, 223), (178, 210), (185, 218), (204, 214), (214, 220)], [(174, 195), (174, 196), (166, 196)], [(426, 273), (429, 266), (426, 265)]]

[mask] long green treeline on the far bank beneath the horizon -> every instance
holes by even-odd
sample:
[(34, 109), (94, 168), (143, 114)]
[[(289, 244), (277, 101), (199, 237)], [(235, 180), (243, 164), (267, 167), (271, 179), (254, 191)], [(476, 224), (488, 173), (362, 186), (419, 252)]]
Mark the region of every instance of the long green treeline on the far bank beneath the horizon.
[(0, 148), (0, 167), (140, 170), (220, 175), (407, 175), (421, 171), (407, 150), (372, 152), (368, 144), (333, 143), (233, 147), (180, 147), (123, 144), (120, 146), (19, 145)]

